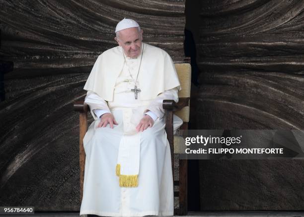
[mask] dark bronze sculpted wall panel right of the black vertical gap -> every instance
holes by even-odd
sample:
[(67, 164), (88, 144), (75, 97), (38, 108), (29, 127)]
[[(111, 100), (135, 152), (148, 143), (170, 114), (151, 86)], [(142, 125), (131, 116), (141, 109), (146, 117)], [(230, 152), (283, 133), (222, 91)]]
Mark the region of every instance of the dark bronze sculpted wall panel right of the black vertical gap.
[[(304, 1), (201, 3), (197, 129), (304, 129)], [(200, 161), (202, 210), (304, 210), (303, 160)]]

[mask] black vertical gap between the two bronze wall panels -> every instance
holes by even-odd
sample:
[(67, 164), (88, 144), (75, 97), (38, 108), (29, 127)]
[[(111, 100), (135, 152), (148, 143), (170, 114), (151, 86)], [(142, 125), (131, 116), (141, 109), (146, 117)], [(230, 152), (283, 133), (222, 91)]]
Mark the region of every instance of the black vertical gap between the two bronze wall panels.
[[(199, 42), (201, 1), (186, 0), (185, 2), (185, 41), (186, 57), (191, 57), (191, 85), (198, 85), (199, 69), (196, 63), (196, 43)], [(193, 94), (191, 94), (193, 95)], [(190, 111), (194, 112), (194, 111)], [(191, 114), (190, 114), (191, 115)], [(191, 120), (191, 118), (190, 118)], [(195, 124), (189, 122), (189, 129)], [(200, 175), (199, 160), (188, 160), (188, 211), (200, 211)]]

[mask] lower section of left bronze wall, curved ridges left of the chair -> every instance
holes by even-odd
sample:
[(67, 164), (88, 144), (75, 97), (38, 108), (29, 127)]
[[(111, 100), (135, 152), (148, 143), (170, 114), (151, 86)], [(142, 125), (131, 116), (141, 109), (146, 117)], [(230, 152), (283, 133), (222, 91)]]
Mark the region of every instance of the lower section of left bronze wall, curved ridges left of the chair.
[(1, 204), (25, 204), (38, 211), (77, 210), (78, 118), (72, 102), (81, 97), (86, 76), (5, 82), (12, 95), (0, 107)]

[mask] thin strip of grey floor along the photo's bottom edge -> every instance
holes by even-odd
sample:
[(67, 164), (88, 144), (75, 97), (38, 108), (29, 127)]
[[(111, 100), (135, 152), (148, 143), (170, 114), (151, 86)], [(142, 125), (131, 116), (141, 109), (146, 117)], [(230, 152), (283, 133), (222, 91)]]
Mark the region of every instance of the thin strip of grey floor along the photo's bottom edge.
[[(79, 217), (79, 213), (39, 213), (32, 215), (0, 215), (0, 217)], [(82, 215), (81, 217), (98, 217)], [(184, 217), (304, 217), (303, 212), (189, 212)]]

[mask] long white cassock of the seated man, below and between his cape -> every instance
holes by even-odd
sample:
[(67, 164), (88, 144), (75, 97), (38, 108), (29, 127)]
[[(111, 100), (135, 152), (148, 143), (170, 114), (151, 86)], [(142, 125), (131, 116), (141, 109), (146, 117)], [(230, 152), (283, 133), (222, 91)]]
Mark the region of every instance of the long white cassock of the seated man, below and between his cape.
[[(164, 90), (155, 99), (143, 99), (145, 97), (139, 92), (138, 99), (135, 99), (131, 89), (134, 88), (139, 65), (140, 57), (126, 57), (116, 78), (111, 101), (106, 102), (100, 94), (88, 88), (85, 102), (90, 106), (95, 121), (89, 126), (83, 139), (86, 159), (80, 215), (173, 216), (171, 155), (164, 131), (162, 100), (178, 101), (179, 87)], [(141, 68), (140, 73), (143, 72), (145, 69)], [(140, 81), (137, 87), (145, 88)], [(97, 128), (99, 119), (96, 114), (100, 114), (100, 110), (111, 112), (118, 125), (114, 125), (113, 129), (109, 125)], [(152, 117), (154, 114), (156, 120), (152, 128), (137, 133), (135, 128), (146, 110), (152, 111)], [(181, 124), (182, 121), (175, 117), (174, 128)], [(136, 143), (140, 148), (132, 149), (132, 145)], [(123, 162), (124, 158), (129, 161)], [(116, 172), (118, 159), (122, 160), (123, 165), (127, 165), (122, 171), (138, 171), (137, 187), (120, 187), (120, 178)]]

